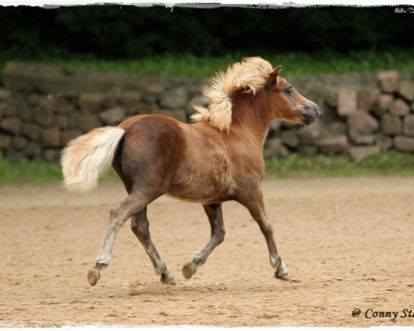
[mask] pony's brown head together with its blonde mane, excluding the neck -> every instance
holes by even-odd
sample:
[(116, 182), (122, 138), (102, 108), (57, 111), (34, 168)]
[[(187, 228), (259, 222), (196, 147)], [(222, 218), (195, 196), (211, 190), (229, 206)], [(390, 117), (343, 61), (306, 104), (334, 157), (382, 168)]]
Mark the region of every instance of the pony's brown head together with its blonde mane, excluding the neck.
[[(221, 131), (229, 131), (232, 123), (233, 98), (239, 93), (266, 99), (266, 112), (272, 119), (282, 119), (300, 124), (314, 123), (319, 117), (315, 103), (302, 97), (290, 84), (279, 77), (281, 66), (272, 65), (260, 58), (250, 57), (229, 66), (226, 72), (218, 72), (203, 94), (210, 98), (208, 108), (195, 106), (191, 117), (195, 121), (210, 122)], [(266, 95), (264, 95), (266, 94)]]

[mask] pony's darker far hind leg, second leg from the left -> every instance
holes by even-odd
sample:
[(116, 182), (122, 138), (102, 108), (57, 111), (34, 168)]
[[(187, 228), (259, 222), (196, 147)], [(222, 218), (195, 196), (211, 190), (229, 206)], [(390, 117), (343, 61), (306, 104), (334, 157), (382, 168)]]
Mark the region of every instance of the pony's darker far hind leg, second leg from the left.
[(151, 241), (149, 226), (150, 224), (148, 223), (148, 219), (146, 217), (146, 208), (132, 216), (131, 230), (144, 246), (148, 257), (150, 257), (152, 265), (154, 265), (155, 272), (161, 275), (161, 283), (175, 285), (175, 279), (172, 277), (172, 273), (167, 268), (166, 263), (164, 263), (159, 256), (157, 249)]

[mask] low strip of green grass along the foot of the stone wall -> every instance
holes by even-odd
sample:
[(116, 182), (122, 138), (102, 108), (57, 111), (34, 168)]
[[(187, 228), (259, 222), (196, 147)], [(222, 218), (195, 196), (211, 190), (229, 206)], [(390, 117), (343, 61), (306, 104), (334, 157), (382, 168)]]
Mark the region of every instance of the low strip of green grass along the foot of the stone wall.
[[(286, 159), (266, 160), (265, 179), (313, 178), (313, 177), (359, 177), (359, 176), (414, 176), (414, 156), (411, 154), (376, 154), (354, 163), (346, 157), (298, 157), (293, 154)], [(0, 160), (0, 185), (58, 183), (62, 180), (57, 163)], [(112, 168), (101, 181), (119, 181)]]

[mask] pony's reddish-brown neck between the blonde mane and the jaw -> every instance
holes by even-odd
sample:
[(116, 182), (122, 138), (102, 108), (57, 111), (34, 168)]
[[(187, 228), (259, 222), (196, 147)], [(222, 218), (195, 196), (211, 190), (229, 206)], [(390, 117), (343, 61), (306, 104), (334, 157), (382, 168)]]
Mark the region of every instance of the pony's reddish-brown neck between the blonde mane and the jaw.
[(241, 93), (233, 99), (231, 127), (255, 139), (260, 148), (263, 148), (272, 121), (265, 96), (259, 91), (255, 96)]

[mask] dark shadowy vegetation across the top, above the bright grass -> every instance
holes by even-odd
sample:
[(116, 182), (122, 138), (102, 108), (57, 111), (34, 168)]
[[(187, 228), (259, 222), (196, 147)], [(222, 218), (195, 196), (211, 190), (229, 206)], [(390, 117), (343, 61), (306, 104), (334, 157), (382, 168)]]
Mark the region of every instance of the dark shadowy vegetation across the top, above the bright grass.
[[(412, 46), (413, 17), (395, 6), (211, 9), (179, 6), (9, 6), (0, 10), (0, 52), (12, 59), (93, 54), (282, 54)], [(401, 7), (400, 7), (401, 8)]]

